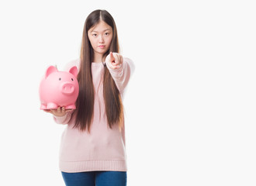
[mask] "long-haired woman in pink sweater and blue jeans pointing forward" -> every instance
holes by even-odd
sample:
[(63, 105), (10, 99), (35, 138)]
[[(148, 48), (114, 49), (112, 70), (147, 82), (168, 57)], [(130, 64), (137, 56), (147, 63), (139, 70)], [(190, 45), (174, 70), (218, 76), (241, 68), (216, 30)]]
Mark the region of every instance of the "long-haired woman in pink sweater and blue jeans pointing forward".
[(119, 54), (116, 24), (106, 10), (85, 20), (78, 67), (75, 110), (51, 109), (57, 123), (67, 124), (60, 169), (66, 185), (126, 185), (126, 146), (122, 95), (133, 62)]

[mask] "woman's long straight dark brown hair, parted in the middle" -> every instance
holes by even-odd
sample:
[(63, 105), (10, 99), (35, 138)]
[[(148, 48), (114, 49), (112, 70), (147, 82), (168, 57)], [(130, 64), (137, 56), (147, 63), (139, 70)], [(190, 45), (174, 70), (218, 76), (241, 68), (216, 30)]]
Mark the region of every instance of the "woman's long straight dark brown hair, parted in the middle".
[[(76, 119), (74, 127), (81, 130), (88, 129), (93, 119), (95, 91), (92, 82), (92, 60), (94, 51), (88, 39), (88, 30), (95, 26), (100, 20), (112, 27), (112, 41), (109, 50), (103, 55), (106, 57), (109, 52), (119, 53), (119, 42), (116, 31), (116, 23), (106, 10), (95, 10), (85, 20), (85, 26), (81, 42), (80, 70), (78, 72), (79, 95), (76, 102)], [(103, 65), (103, 64), (102, 64)], [(118, 124), (123, 125), (123, 104), (116, 83), (112, 79), (108, 68), (104, 67), (103, 96), (106, 105), (106, 116), (109, 127)]]

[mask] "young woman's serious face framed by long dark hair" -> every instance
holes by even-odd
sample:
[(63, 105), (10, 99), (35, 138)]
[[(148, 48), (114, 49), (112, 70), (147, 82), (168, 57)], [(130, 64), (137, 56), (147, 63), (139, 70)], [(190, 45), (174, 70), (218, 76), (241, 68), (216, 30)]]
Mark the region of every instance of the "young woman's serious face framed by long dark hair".
[(112, 27), (102, 20), (88, 30), (88, 38), (95, 55), (103, 55), (109, 50), (112, 40)]

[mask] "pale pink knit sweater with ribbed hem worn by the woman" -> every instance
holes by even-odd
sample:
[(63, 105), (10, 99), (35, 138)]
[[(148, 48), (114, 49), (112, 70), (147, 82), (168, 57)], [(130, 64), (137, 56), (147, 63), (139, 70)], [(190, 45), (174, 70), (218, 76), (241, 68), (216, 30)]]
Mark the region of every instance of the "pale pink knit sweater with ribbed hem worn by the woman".
[[(71, 61), (67, 68), (79, 60)], [(109, 64), (106, 64), (109, 68)], [(94, 117), (91, 132), (73, 129), (74, 117), (68, 112), (62, 117), (54, 116), (60, 124), (67, 124), (61, 137), (60, 170), (64, 172), (83, 171), (126, 171), (125, 129), (116, 125), (109, 128), (106, 119), (102, 85), (102, 63), (92, 63), (92, 79), (95, 87)], [(132, 60), (123, 57), (123, 65), (116, 70), (109, 68), (110, 74), (123, 97), (126, 85), (134, 71)], [(123, 123), (124, 126), (124, 123)]]

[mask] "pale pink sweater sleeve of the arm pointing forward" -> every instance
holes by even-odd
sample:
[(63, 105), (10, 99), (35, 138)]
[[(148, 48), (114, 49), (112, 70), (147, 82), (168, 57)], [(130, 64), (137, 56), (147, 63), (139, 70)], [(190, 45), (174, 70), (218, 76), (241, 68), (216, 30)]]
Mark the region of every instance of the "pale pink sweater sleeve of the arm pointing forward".
[(111, 67), (109, 67), (110, 64), (108, 62), (106, 62), (106, 66), (108, 67), (109, 72), (112, 75), (112, 78), (114, 79), (119, 92), (123, 93), (126, 85), (130, 80), (130, 77), (135, 70), (133, 61), (127, 57), (123, 57), (123, 64), (118, 69), (112, 69)]

